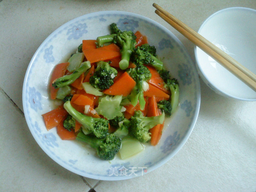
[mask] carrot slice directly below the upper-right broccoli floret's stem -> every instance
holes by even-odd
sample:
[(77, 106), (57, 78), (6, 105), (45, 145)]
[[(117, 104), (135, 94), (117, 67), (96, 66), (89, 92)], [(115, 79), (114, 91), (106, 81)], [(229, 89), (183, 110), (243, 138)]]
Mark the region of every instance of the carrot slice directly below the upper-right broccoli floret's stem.
[(170, 91), (164, 88), (164, 80), (161, 78), (156, 69), (148, 65), (146, 67), (149, 69), (151, 73), (151, 78), (149, 79), (148, 83), (161, 89), (163, 92), (170, 94)]

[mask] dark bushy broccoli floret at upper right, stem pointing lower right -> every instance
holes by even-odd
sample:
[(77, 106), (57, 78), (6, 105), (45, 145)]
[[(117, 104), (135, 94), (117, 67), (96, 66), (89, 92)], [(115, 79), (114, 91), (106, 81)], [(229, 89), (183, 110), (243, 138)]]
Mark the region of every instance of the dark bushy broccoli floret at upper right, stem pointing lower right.
[(155, 53), (154, 46), (141, 45), (134, 50), (131, 58), (135, 65), (146, 64), (153, 66), (157, 70), (161, 70), (163, 68), (163, 62), (154, 56)]

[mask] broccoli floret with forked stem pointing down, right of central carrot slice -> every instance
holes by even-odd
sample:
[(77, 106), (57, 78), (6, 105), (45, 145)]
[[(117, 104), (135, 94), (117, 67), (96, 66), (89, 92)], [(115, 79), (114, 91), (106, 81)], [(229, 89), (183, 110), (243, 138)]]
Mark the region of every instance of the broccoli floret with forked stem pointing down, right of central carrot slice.
[(131, 94), (129, 95), (129, 99), (131, 100), (131, 104), (136, 106), (138, 103), (138, 99), (140, 102), (140, 109), (143, 110), (146, 104), (143, 96), (143, 82), (147, 82), (151, 78), (151, 73), (147, 67), (144, 65), (137, 65), (135, 68), (130, 68), (127, 70), (128, 74), (135, 80), (136, 85), (132, 89)]

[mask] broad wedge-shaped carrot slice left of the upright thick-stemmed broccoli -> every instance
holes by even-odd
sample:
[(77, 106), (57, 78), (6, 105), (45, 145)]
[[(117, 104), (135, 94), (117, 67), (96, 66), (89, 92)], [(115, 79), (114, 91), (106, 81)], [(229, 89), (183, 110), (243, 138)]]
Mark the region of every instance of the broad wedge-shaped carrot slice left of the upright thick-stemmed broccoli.
[(116, 51), (106, 51), (102, 49), (85, 49), (83, 50), (84, 55), (87, 60), (89, 60), (91, 63), (113, 59), (121, 55), (120, 52)]

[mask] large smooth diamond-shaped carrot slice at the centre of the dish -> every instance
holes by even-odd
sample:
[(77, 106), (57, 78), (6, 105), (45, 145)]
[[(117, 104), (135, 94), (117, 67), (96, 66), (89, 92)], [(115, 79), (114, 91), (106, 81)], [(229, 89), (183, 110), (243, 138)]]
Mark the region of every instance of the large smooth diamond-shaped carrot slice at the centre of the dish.
[(123, 95), (127, 96), (131, 93), (133, 87), (136, 85), (136, 82), (132, 77), (124, 72), (116, 82), (111, 85), (108, 89), (104, 90), (103, 93), (109, 95)]

